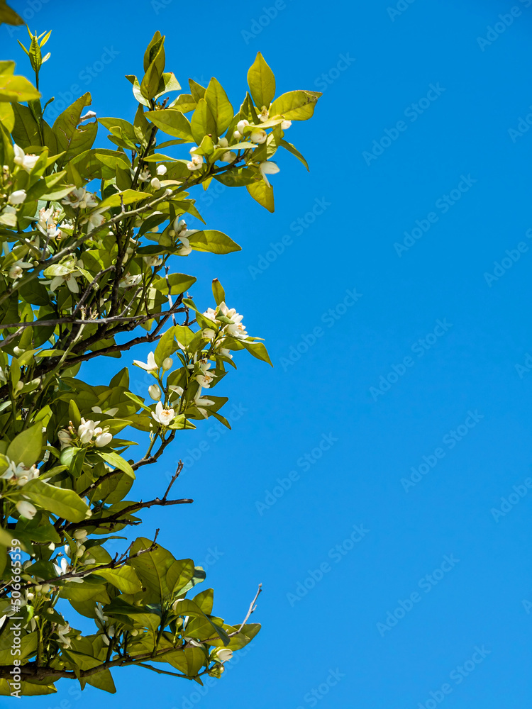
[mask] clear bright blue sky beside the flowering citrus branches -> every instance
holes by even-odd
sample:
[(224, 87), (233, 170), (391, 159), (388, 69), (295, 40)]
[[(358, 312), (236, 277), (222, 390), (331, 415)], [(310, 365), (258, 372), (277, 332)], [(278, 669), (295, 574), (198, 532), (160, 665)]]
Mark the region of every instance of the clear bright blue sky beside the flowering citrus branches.
[[(532, 130), (509, 135), (532, 111), (526, 4), (516, 0), (521, 14), (507, 16), (511, 25), (489, 35), (488, 44), (478, 38), (487, 38), (499, 13), (511, 11), (510, 1), (416, 0), (389, 13), (396, 6), (386, 0), (285, 0), (277, 17), (262, 17), (257, 33), (260, 25), (252, 23), (272, 0), (230, 6), (173, 0), (158, 11), (139, 0), (65, 4), (61, 11), (50, 2), (33, 17), (30, 2), (13, 0), (32, 28), (54, 30), (45, 94), (59, 96), (78, 84), (92, 92), (99, 116), (133, 116), (122, 77), (140, 73), (156, 29), (167, 35), (167, 67), (182, 84), (188, 77), (206, 83), (215, 74), (235, 104), (257, 50), (281, 91), (326, 87), (314, 120), (294, 123), (289, 134), (311, 173), (288, 154), (279, 156), (274, 215), (244, 190), (198, 195), (209, 227), (229, 233), (243, 251), (194, 253), (179, 267), (199, 274), (194, 296), (204, 306), (211, 278), (221, 279), (250, 333), (266, 338), (275, 369), (238, 358), (238, 373), (217, 390), (231, 396), (229, 410), (232, 403), (240, 408), (232, 432), (216, 440), (207, 423), (182, 435), (175, 449), (175, 456), (190, 457), (200, 442), (209, 444), (179, 482), (194, 506), (151, 513), (143, 527), (150, 535), (161, 526), (160, 540), (176, 555), (209, 566), (215, 608), (228, 620), (243, 617), (262, 581), (254, 620), (264, 628), (202, 698), (193, 683), (131, 669), (115, 673), (116, 697), (91, 687), (80, 696), (61, 685), (56, 696), (31, 700), (33, 706), (156, 701), (164, 709), (431, 709), (440, 700), (449, 709), (513, 709), (530, 703), (532, 615), (523, 601), (532, 601), (532, 491), (523, 485), (532, 475), (532, 370), (520, 376), (515, 365), (532, 353), (526, 236)], [(243, 35), (253, 29), (256, 36)], [(5, 26), (0, 32), (2, 53), (26, 67), (16, 44), (27, 39), (25, 30), (11, 30), (11, 38)], [(116, 57), (104, 67), (98, 62), (111, 49)], [(346, 55), (355, 61), (339, 71)], [(89, 83), (87, 66), (96, 74)], [(323, 84), (323, 74), (330, 83)], [(420, 101), (431, 84), (440, 95)], [(423, 111), (416, 120), (413, 104)], [(398, 121), (406, 129), (396, 135)], [(386, 129), (397, 139), (379, 148), (373, 141)], [(365, 160), (372, 148), (382, 154)], [(316, 200), (326, 202), (326, 211), (309, 223)], [(307, 219), (305, 228), (297, 229), (299, 218)], [(398, 255), (394, 244), (416, 220), (430, 228)], [(290, 245), (264, 269), (261, 257), (284, 235)], [(523, 252), (513, 252), (519, 261), (499, 267), (498, 280), (486, 279), (520, 242)], [(260, 264), (261, 272), (250, 272)], [(362, 297), (344, 307), (348, 291)], [(322, 319), (329, 308), (338, 320)], [(433, 336), (438, 320), (446, 331)], [(304, 336), (320, 327), (303, 352)], [(298, 361), (284, 362), (290, 352), (296, 359), (298, 345)], [(402, 374), (405, 357), (411, 366)], [(109, 360), (109, 374), (101, 367), (89, 374), (108, 381), (128, 363)], [(387, 376), (394, 383), (376, 394), (371, 387)], [(135, 386), (145, 388), (140, 379)], [(314, 449), (324, 435), (337, 440), (318, 459)], [(305, 464), (313, 450), (313, 462)], [(423, 456), (433, 467), (414, 474), (419, 482), (406, 491), (401, 479)], [(140, 493), (160, 493), (173, 465), (170, 454), (140, 475)], [(290, 471), (299, 479), (260, 514), (257, 502)], [(519, 498), (514, 486), (528, 493)], [(503, 509), (510, 511), (493, 513), (509, 496), (515, 504)], [(360, 542), (348, 541), (339, 557), (334, 548), (349, 540), (353, 525), (369, 531)], [(287, 596), (298, 588), (303, 596), (321, 564), (328, 570), (314, 588), (298, 601)], [(377, 625), (387, 620), (387, 629)], [(482, 654), (475, 647), (484, 647)]]

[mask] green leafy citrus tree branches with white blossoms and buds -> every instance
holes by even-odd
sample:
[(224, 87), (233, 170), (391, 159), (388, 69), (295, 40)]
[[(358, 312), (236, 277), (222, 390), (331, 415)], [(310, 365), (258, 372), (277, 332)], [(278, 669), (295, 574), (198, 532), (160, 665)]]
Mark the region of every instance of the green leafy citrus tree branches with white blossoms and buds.
[[(38, 91), (49, 33), (30, 36), (35, 82), (0, 62), (0, 693), (51, 693), (63, 678), (113, 692), (111, 670), (131, 664), (201, 683), (259, 630), (253, 603), (226, 623), (212, 589), (196, 593), (205, 574), (191, 559), (156, 533), (128, 545), (120, 532), (145, 508), (192, 502), (170, 496), (180, 462), (150, 501), (135, 501), (135, 475), (172, 455), (179, 431), (210, 417), (228, 426), (213, 390), (241, 350), (270, 362), (217, 280), (196, 306), (196, 279), (174, 271), (192, 251), (240, 249), (189, 228), (203, 223), (191, 191), (245, 187), (272, 211), (272, 157), (282, 147), (304, 162), (285, 133), (319, 94), (276, 99), (260, 54), (239, 108), (216, 79), (179, 93), (157, 32), (144, 75), (126, 77), (127, 118), (96, 118), (87, 93), (50, 125)], [(142, 343), (150, 354), (133, 361)], [(145, 396), (127, 366), (106, 379), (106, 357), (148, 373)], [(95, 358), (92, 384), (80, 367)], [(144, 440), (136, 456), (131, 429)]]

